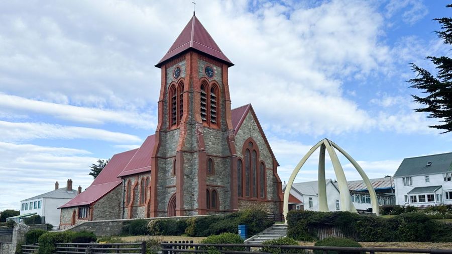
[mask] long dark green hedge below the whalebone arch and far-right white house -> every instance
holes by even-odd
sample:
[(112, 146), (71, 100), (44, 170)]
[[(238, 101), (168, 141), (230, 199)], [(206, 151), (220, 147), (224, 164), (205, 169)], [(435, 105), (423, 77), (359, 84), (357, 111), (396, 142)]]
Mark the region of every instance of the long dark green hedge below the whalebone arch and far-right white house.
[(452, 235), (443, 233), (452, 230), (452, 226), (420, 212), (382, 218), (350, 212), (290, 211), (287, 221), (287, 235), (297, 240), (316, 238), (314, 232), (308, 232), (308, 227), (338, 227), (347, 237), (363, 242), (452, 240)]

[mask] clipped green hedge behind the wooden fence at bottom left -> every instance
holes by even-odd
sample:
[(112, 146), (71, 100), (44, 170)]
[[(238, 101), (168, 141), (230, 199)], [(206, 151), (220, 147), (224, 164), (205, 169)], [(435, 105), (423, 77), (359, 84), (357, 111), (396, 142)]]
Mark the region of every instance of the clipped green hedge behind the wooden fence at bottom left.
[(39, 250), (38, 254), (52, 254), (56, 251), (55, 244), (58, 242), (95, 242), (97, 237), (92, 232), (47, 232), (38, 238)]

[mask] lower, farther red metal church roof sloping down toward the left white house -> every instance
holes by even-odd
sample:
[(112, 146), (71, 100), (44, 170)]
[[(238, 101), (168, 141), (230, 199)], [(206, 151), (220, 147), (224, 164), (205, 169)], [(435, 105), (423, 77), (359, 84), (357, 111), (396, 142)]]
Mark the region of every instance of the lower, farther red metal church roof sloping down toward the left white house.
[(99, 176), (84, 192), (59, 208), (89, 205), (115, 189), (122, 181), (118, 175), (121, 174), (137, 151), (138, 148), (113, 155)]

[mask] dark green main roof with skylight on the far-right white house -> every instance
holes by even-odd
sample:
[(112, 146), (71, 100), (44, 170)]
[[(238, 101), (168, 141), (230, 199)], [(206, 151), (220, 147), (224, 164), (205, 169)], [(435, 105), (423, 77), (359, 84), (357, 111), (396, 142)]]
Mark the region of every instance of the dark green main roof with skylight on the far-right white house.
[(405, 158), (397, 168), (394, 177), (438, 174), (448, 171), (452, 171), (452, 152)]

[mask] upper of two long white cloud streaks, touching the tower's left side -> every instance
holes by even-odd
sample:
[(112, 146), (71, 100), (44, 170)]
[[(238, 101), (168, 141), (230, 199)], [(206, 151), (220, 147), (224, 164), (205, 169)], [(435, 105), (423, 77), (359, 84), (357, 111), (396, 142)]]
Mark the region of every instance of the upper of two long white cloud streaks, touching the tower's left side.
[(49, 115), (59, 119), (80, 123), (119, 123), (146, 129), (156, 126), (155, 117), (151, 117), (146, 113), (138, 114), (130, 111), (77, 107), (5, 94), (0, 94), (0, 107), (4, 110)]

